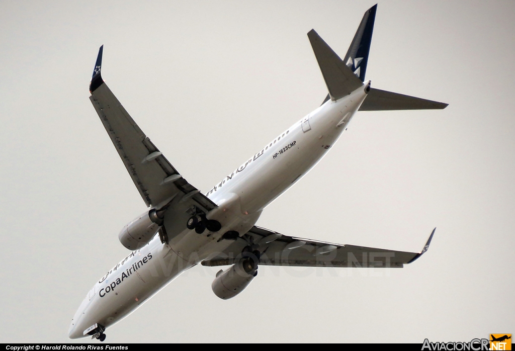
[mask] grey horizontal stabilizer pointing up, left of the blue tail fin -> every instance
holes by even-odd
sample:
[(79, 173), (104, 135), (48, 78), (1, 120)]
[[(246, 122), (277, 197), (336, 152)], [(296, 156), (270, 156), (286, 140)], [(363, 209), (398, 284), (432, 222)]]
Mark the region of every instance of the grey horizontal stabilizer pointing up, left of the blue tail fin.
[(332, 100), (349, 95), (363, 85), (347, 65), (312, 29), (307, 33)]

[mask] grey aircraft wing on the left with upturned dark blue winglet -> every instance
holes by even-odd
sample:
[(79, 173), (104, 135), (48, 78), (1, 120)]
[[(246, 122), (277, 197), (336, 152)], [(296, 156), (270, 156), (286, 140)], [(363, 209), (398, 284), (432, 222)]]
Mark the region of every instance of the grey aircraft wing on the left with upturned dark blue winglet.
[(162, 207), (180, 195), (183, 200), (199, 205), (206, 212), (217, 207), (182, 178), (102, 80), (100, 68), (103, 47), (98, 51), (90, 83), (90, 100), (143, 201), (147, 206)]

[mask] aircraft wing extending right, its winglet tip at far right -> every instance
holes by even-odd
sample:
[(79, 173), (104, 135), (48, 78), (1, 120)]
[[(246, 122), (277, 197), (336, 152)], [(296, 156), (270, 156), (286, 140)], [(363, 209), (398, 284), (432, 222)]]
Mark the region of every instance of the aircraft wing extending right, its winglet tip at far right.
[[(352, 267), (352, 268), (402, 268), (427, 251), (436, 228), (431, 233), (424, 249), (419, 252), (393, 251), (367, 248), (356, 245), (342, 245), (331, 242), (302, 239), (282, 235), (254, 226), (247, 233), (255, 247), (259, 247), (259, 265), (303, 266), (303, 267)], [(247, 240), (238, 238), (224, 252), (209, 257), (203, 266), (227, 266), (241, 258)]]

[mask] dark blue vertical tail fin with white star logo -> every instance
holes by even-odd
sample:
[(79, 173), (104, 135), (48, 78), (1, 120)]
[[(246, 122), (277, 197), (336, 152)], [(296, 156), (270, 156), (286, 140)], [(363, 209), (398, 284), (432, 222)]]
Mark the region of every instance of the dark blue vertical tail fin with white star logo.
[(363, 15), (363, 20), (361, 20), (344, 58), (345, 64), (352, 69), (352, 72), (362, 82), (365, 81), (365, 73), (367, 72), (368, 54), (370, 52), (370, 42), (372, 41), (376, 9), (377, 4), (369, 8)]

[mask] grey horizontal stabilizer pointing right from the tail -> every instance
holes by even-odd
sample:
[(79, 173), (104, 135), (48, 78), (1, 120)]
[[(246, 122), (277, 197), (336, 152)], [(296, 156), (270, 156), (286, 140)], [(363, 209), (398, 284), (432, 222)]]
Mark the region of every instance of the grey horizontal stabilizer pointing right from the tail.
[(371, 88), (359, 111), (441, 110), (448, 103)]

